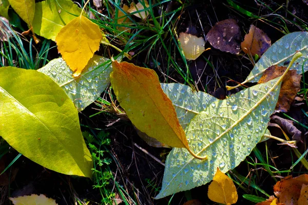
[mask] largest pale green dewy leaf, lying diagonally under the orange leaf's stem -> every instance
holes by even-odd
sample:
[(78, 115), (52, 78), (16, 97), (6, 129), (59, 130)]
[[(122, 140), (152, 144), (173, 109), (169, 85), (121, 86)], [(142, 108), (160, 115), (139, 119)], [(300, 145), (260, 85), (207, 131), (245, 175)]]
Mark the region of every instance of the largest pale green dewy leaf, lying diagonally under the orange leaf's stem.
[(251, 153), (263, 136), (280, 90), (279, 79), (258, 84), (225, 100), (215, 101), (185, 128), (192, 157), (184, 148), (167, 156), (162, 190), (157, 199), (190, 190), (213, 179), (217, 167), (225, 173)]

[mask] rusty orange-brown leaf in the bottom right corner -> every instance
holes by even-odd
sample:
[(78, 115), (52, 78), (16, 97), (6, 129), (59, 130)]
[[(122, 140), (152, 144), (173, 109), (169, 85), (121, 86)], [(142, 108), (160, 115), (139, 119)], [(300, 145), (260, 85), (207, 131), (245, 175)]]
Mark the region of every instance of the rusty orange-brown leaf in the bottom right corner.
[[(278, 181), (274, 186), (274, 193), (280, 203), (298, 204), (302, 185), (308, 184), (308, 175), (302, 174), (298, 177), (288, 176)], [(304, 196), (303, 196), (304, 197)]]

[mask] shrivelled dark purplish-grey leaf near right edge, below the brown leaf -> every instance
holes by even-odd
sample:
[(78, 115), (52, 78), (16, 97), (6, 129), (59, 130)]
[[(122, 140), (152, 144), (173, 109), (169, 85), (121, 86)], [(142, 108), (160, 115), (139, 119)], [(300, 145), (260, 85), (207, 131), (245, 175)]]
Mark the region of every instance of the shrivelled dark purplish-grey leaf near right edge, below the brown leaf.
[(273, 116), (271, 119), (281, 126), (283, 131), (286, 131), (288, 134), (292, 135), (292, 140), (301, 140), (301, 132), (293, 125), (293, 121), (281, 118), (279, 116)]

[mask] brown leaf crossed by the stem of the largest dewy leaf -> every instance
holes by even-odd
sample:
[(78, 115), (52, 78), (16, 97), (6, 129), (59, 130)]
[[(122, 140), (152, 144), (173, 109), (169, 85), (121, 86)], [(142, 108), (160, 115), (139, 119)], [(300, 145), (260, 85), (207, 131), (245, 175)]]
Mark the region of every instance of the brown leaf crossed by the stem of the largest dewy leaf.
[[(286, 67), (273, 65), (267, 68), (258, 84), (266, 83), (272, 79), (275, 79), (283, 74)], [(275, 111), (286, 113), (294, 101), (297, 92), (300, 89), (301, 75), (296, 73), (296, 70), (289, 70), (286, 76), (283, 78), (279, 93), (278, 102), (276, 104)]]

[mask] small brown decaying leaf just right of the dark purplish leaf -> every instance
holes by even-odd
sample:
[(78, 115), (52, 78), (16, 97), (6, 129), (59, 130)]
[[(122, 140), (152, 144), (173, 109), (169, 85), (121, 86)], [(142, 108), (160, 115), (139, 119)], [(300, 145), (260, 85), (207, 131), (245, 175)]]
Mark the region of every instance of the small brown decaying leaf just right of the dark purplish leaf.
[(241, 43), (242, 50), (252, 55), (258, 54), (259, 57), (272, 45), (271, 39), (261, 29), (251, 25), (249, 32), (245, 35)]

